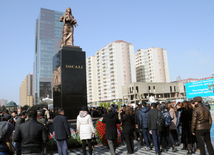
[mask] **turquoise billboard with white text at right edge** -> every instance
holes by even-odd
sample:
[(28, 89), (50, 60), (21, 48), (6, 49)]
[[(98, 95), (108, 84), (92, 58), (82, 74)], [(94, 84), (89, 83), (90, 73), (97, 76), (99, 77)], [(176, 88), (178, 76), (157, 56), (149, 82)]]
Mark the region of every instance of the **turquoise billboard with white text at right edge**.
[(186, 83), (187, 98), (214, 96), (214, 78)]

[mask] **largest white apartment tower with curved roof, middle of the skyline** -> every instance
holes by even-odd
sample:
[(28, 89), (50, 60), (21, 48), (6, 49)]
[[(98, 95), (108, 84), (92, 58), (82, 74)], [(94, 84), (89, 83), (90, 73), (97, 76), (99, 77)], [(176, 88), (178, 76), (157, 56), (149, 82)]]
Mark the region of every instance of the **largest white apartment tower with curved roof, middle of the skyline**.
[[(96, 68), (97, 79), (94, 84), (97, 84), (97, 90), (87, 92), (88, 102), (91, 101), (91, 94), (89, 94), (91, 92), (95, 96), (97, 95), (99, 102), (121, 101), (122, 86), (136, 82), (134, 46), (117, 40), (97, 51), (95, 59), (95, 67), (93, 66), (91, 69)], [(89, 69), (88, 66), (87, 68)], [(89, 74), (88, 70), (87, 82), (90, 80)], [(88, 84), (88, 86), (90, 85)]]

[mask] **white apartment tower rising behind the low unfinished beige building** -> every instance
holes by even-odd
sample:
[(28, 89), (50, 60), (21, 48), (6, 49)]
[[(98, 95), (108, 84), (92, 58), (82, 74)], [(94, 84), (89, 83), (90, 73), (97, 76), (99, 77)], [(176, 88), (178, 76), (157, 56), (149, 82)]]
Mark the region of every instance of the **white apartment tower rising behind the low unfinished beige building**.
[(139, 49), (135, 60), (137, 82), (170, 82), (166, 49)]

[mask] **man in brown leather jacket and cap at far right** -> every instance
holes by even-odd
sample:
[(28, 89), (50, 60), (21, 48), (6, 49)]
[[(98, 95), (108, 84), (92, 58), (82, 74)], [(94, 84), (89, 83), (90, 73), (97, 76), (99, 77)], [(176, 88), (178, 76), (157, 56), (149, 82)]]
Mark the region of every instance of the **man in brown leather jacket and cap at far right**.
[(196, 135), (198, 146), (201, 155), (206, 155), (205, 145), (206, 143), (208, 153), (214, 154), (213, 147), (210, 138), (210, 129), (212, 127), (212, 118), (208, 108), (203, 106), (202, 98), (195, 97), (193, 99), (195, 103), (195, 109), (192, 114), (192, 134)]

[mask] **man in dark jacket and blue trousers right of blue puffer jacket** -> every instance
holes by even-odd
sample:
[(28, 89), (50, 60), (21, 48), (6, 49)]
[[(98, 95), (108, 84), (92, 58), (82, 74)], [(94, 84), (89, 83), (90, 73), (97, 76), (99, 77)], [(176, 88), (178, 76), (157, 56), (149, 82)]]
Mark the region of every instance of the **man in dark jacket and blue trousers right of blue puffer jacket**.
[(149, 111), (148, 114), (148, 129), (149, 133), (152, 135), (153, 138), (153, 143), (155, 145), (155, 153), (156, 155), (161, 154), (160, 152), (160, 141), (159, 141), (159, 133), (157, 132), (157, 118), (158, 118), (158, 113), (161, 115), (162, 113), (157, 109), (157, 104), (152, 103), (151, 104), (151, 110)]

